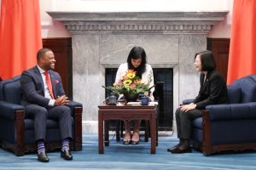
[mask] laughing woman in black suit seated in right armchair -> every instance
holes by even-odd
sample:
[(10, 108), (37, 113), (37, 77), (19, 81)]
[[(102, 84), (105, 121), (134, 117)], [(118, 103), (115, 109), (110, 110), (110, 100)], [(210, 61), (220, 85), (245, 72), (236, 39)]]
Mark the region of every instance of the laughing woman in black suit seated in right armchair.
[(195, 70), (201, 72), (201, 88), (192, 103), (177, 108), (175, 114), (179, 143), (167, 151), (172, 153), (191, 152), (189, 145), (191, 122), (202, 116), (202, 110), (207, 105), (229, 103), (226, 83), (215, 68), (216, 64), (211, 51), (202, 51), (195, 54)]

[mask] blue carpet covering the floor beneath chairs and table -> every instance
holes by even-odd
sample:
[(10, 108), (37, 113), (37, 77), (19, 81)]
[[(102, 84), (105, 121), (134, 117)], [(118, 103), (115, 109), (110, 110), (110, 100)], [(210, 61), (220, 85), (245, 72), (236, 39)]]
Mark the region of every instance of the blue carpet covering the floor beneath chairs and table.
[(256, 169), (256, 151), (203, 156), (193, 150), (192, 153), (173, 155), (166, 149), (177, 144), (176, 136), (159, 137), (155, 155), (150, 154), (150, 143), (145, 142), (125, 146), (113, 138), (103, 155), (98, 154), (97, 144), (96, 134), (84, 134), (83, 150), (73, 151), (73, 161), (62, 160), (60, 152), (56, 151), (48, 153), (49, 163), (38, 162), (35, 154), (15, 156), (0, 149), (0, 169)]

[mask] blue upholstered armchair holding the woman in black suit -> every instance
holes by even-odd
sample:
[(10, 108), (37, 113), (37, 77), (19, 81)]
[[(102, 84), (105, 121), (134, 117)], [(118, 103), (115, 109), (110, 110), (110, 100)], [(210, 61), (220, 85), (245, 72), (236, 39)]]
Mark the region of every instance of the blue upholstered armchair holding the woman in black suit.
[(229, 105), (207, 105), (203, 116), (192, 122), (193, 146), (205, 156), (256, 148), (256, 76), (236, 80), (228, 86), (228, 94)]

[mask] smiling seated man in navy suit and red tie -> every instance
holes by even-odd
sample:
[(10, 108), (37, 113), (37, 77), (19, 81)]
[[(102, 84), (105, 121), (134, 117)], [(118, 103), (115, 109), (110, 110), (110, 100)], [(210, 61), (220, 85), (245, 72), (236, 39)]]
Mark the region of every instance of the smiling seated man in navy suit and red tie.
[(44, 140), (47, 118), (58, 120), (61, 130), (61, 157), (72, 160), (69, 141), (72, 139), (71, 111), (55, 68), (55, 55), (49, 48), (42, 48), (37, 54), (38, 65), (24, 71), (20, 83), (22, 88), (21, 105), (26, 115), (34, 119), (35, 141), (38, 145), (38, 161), (48, 162)]

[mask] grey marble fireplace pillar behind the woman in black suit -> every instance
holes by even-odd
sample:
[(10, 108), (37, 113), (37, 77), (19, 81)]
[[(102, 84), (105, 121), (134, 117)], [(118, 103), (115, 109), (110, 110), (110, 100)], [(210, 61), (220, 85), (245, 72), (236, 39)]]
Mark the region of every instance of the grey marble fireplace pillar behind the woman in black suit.
[[(173, 104), (173, 129), (176, 131), (175, 111), (182, 104), (183, 99), (195, 99), (199, 92), (199, 72), (195, 71), (195, 53), (207, 48), (205, 35), (180, 35), (178, 46), (178, 65), (174, 68), (174, 104)], [(178, 97), (177, 97), (178, 96)]]

